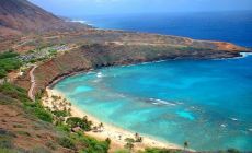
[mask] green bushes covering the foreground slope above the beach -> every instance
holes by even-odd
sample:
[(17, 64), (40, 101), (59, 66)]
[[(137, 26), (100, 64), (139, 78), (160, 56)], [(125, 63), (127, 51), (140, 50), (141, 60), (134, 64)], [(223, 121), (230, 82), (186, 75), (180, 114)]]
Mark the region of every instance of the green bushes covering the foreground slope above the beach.
[[(42, 106), (39, 97), (41, 95), (36, 96), (36, 102), (34, 103), (27, 97), (25, 90), (10, 83), (4, 83), (0, 85), (0, 105), (21, 106), (21, 108), (23, 108), (28, 116), (35, 116), (38, 120), (42, 120), (44, 122), (56, 122), (55, 119), (57, 119), (57, 116), (66, 115), (62, 111), (50, 113), (49, 110), (46, 110)], [(82, 131), (70, 132), (71, 127), (75, 127), (77, 125), (82, 127), (83, 130), (90, 130), (91, 122), (88, 120), (87, 117), (82, 119), (70, 118), (68, 119), (68, 123), (69, 125), (65, 125), (64, 122), (61, 122), (59, 125), (55, 125), (55, 130), (57, 130), (57, 132), (61, 134), (56, 142), (46, 142), (46, 148), (50, 150), (57, 150), (57, 148), (60, 145), (62, 148), (67, 148), (69, 150), (73, 150), (75, 152), (80, 153), (107, 153), (111, 143), (110, 139), (106, 139), (105, 141), (98, 141), (93, 138), (85, 136)], [(16, 134), (21, 134), (23, 137), (32, 136), (31, 133), (23, 130), (16, 131), (15, 134), (12, 134), (0, 129), (0, 153), (15, 153), (20, 150), (15, 149), (12, 142), (13, 139), (16, 138)], [(45, 146), (35, 146), (32, 152), (49, 152), (49, 150)]]

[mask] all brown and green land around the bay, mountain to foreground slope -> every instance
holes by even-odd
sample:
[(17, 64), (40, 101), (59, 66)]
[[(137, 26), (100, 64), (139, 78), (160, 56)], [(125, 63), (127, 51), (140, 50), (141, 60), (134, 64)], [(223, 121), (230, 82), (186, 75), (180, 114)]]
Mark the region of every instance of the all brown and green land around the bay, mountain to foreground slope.
[[(5, 51), (14, 52), (14, 57), (0, 58), (2, 76), (20, 87), (0, 79), (0, 152), (105, 153), (108, 141), (71, 132), (71, 125), (64, 121), (58, 125), (62, 116), (41, 104), (46, 86), (62, 76), (102, 67), (232, 58), (249, 50), (225, 42), (96, 30), (66, 22), (27, 0), (1, 0), (0, 54)], [(35, 103), (27, 97), (31, 84), (35, 85), (31, 91), (36, 95)]]

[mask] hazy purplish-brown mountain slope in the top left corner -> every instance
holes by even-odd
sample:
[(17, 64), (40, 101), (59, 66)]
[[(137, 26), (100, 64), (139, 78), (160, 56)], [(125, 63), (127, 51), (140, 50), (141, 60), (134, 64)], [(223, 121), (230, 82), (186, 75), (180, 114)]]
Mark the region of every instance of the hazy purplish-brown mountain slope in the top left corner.
[(84, 25), (68, 23), (26, 0), (0, 1), (0, 36), (23, 33), (76, 31)]

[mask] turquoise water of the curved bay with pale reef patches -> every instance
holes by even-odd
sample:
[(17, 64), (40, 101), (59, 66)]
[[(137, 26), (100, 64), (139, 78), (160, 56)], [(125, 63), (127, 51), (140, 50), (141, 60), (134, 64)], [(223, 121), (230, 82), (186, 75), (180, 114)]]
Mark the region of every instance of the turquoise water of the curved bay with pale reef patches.
[(252, 56), (104, 68), (54, 89), (125, 129), (196, 150), (252, 151)]

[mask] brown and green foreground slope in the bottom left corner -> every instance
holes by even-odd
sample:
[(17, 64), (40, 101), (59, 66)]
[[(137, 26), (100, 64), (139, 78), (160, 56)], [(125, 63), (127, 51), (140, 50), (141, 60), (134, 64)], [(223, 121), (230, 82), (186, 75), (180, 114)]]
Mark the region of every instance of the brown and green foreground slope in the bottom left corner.
[(105, 153), (105, 141), (70, 133), (68, 127), (54, 126), (53, 114), (39, 101), (31, 102), (26, 91), (5, 83), (0, 86), (0, 153), (2, 152), (92, 152)]

